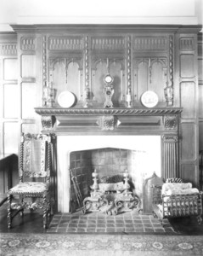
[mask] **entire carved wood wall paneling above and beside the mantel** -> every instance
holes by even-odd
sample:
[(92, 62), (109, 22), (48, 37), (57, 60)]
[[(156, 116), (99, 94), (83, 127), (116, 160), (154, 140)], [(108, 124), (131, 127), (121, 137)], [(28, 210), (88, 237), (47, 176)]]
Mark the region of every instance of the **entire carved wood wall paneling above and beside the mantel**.
[[(129, 95), (131, 108), (144, 108), (140, 98), (146, 90), (154, 90), (159, 96), (158, 108), (183, 108), (178, 175), (198, 184), (199, 121), (200, 127), (203, 126), (198, 111), (203, 105), (202, 59), (199, 56), (198, 61), (197, 54), (200, 27), (13, 28), (17, 38), (1, 39), (1, 44), (8, 40), (15, 45), (14, 50), (8, 48), (6, 53), (2, 48), (0, 53), (3, 153), (17, 151), (20, 131), (40, 131), (40, 116), (33, 108), (59, 108), (57, 96), (64, 90), (75, 94), (75, 108), (102, 108), (104, 75), (110, 72), (114, 77), (112, 102), (116, 108), (127, 107)], [(171, 102), (167, 102), (166, 86), (173, 91)]]

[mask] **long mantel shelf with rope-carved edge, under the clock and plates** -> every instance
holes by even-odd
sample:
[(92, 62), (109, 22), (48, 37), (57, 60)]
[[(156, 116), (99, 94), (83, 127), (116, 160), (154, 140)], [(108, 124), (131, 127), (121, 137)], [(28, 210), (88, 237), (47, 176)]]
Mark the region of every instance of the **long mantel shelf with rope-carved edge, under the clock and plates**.
[(179, 114), (183, 108), (35, 108), (40, 115), (138, 115)]

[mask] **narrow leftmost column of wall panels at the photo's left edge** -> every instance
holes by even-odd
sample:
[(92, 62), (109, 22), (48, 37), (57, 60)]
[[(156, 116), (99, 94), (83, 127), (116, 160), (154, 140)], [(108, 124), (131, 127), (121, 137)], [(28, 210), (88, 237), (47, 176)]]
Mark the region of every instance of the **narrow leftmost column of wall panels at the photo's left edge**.
[(18, 153), (20, 134), (20, 86), (17, 38), (0, 35), (0, 152)]

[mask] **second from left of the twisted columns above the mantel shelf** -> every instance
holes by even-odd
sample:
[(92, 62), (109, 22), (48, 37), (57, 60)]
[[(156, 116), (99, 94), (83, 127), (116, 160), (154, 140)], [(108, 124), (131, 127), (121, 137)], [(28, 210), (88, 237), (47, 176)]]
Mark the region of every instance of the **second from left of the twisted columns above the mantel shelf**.
[(89, 96), (89, 49), (88, 49), (88, 37), (85, 38), (85, 96), (84, 96), (84, 108), (88, 107), (88, 96)]

